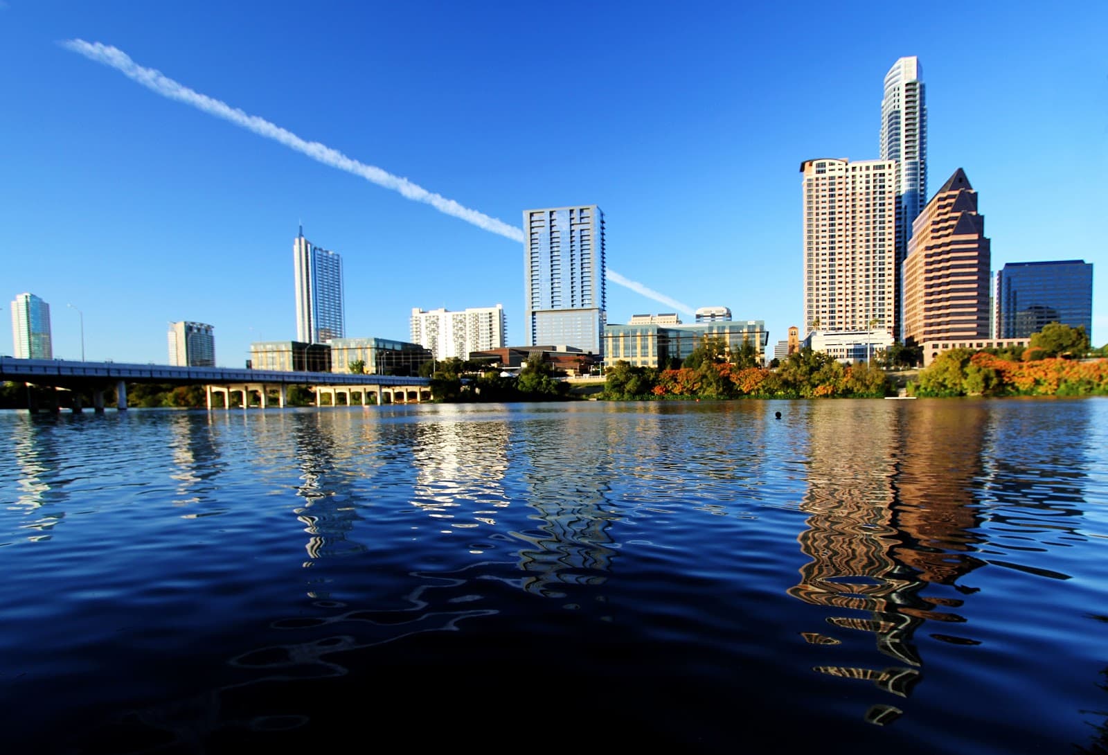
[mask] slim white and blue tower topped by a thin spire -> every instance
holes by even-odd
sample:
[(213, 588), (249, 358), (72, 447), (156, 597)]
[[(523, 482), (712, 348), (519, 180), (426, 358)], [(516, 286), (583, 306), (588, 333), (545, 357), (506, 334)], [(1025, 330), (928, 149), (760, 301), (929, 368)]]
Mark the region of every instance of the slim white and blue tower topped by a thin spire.
[(342, 257), (314, 246), (304, 237), (304, 226), (293, 242), (296, 267), (296, 339), (326, 344), (342, 338)]

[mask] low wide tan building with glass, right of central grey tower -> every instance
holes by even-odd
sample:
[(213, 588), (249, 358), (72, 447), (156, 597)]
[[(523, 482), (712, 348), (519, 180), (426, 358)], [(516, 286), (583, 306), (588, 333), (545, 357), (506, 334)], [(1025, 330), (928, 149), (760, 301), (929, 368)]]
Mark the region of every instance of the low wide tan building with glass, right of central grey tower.
[(731, 350), (743, 341), (761, 364), (769, 344), (763, 320), (697, 323), (695, 325), (607, 325), (604, 328), (604, 365), (626, 361), (633, 367), (667, 368), (684, 361), (705, 338), (718, 338)]

